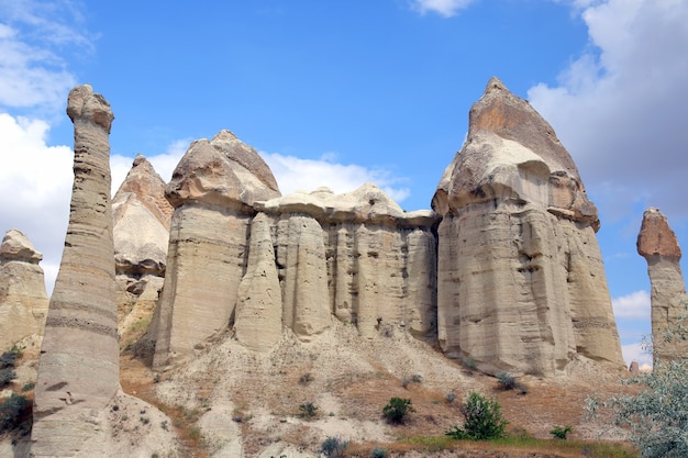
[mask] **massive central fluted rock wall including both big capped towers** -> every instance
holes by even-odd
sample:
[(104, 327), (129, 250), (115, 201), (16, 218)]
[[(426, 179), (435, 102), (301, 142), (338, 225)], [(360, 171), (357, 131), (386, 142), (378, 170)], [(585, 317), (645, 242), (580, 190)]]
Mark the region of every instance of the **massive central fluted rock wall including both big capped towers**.
[[(195, 142), (175, 206), (154, 367), (233, 331), (267, 351), (336, 317), (366, 338), (408, 332), (482, 370), (554, 375), (578, 355), (622, 367), (597, 209), (552, 127), (492, 79), (434, 211), (373, 185), (281, 197), (251, 147)], [(279, 297), (275, 293), (279, 284)]]

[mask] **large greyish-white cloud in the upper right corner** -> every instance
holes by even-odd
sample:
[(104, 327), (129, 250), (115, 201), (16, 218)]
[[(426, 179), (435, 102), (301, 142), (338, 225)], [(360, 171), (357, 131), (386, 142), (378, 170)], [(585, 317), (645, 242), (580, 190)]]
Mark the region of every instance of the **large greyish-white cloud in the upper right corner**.
[[(577, 1), (590, 47), (558, 83), (530, 89), (602, 210), (688, 216), (688, 2)], [(623, 202), (620, 204), (620, 202)], [(623, 205), (623, 206), (621, 206)]]

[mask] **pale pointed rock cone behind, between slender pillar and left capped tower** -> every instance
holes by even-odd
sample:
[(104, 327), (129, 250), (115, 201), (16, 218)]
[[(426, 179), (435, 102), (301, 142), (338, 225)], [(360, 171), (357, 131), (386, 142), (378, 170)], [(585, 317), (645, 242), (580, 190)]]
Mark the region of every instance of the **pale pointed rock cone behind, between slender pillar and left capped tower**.
[(163, 288), (173, 208), (165, 181), (137, 155), (112, 199), (120, 334), (152, 314)]

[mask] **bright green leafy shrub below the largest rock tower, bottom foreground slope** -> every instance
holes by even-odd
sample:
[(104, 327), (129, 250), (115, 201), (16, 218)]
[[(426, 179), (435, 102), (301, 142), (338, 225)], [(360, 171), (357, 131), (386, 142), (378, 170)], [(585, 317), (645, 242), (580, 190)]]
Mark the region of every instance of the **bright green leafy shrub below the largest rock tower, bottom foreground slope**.
[(509, 422), (501, 416), (501, 405), (471, 392), (460, 406), (464, 427), (452, 426), (444, 434), (455, 439), (489, 440), (504, 436)]

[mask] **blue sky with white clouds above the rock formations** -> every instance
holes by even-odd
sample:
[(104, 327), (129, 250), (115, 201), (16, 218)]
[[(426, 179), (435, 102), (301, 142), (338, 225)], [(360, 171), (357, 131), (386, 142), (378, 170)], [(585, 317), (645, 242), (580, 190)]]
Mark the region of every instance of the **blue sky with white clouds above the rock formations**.
[(598, 204), (626, 358), (650, 332), (642, 212), (688, 241), (688, 3), (681, 0), (0, 0), (0, 231), (57, 272), (71, 183), (69, 89), (111, 103), (113, 180), (165, 179), (233, 131), (282, 193), (373, 181), (428, 209), (468, 110), (498, 76), (552, 123)]

